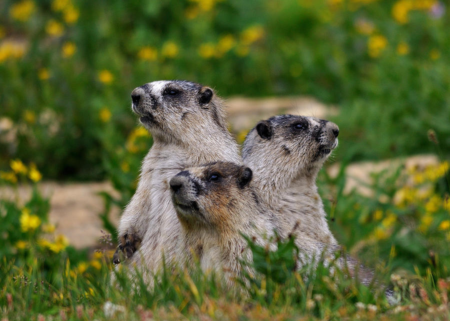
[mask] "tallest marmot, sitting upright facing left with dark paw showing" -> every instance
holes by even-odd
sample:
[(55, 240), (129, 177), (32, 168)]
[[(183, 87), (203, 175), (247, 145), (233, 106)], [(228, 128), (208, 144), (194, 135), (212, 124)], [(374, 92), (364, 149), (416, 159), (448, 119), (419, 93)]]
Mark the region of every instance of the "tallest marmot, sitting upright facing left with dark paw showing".
[[(223, 159), (241, 162), (227, 129), (222, 100), (206, 86), (180, 80), (146, 83), (131, 93), (132, 110), (153, 136), (142, 161), (136, 192), (120, 218), (119, 245), (130, 264), (154, 271), (172, 259), (179, 222), (170, 200), (168, 181), (187, 165)], [(137, 254), (137, 253), (136, 253)], [(141, 258), (145, 262), (141, 262)]]

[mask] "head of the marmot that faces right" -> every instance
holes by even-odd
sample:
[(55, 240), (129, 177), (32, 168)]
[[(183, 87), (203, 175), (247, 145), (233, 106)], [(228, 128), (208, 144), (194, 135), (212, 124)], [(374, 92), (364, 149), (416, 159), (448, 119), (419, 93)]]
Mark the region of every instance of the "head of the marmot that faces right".
[[(259, 121), (245, 137), (245, 163), (267, 162), (267, 170), (318, 171), (337, 146), (339, 128), (333, 122), (314, 117), (279, 115)], [(251, 166), (250, 165), (250, 166)]]

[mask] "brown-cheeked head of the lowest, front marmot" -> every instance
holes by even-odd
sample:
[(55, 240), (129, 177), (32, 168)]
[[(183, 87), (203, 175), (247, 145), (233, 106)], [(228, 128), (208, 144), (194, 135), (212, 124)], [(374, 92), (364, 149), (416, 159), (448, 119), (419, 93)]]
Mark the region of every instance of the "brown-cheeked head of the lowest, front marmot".
[(239, 213), (239, 202), (253, 199), (248, 188), (251, 176), (250, 168), (223, 161), (179, 172), (169, 182), (178, 218), (188, 225), (237, 228), (239, 214), (233, 213)]

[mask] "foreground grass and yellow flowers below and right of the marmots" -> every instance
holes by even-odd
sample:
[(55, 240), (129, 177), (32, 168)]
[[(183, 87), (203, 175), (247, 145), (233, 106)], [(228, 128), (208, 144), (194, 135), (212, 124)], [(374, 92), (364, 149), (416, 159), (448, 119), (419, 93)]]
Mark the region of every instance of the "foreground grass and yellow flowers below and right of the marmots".
[[(139, 272), (130, 279), (124, 267), (115, 273), (113, 283), (109, 237), (103, 237), (99, 251), (93, 253), (67, 246), (46, 223), (48, 200), (35, 188), (24, 206), (0, 200), (4, 244), (0, 315), (9, 320), (39, 315), (54, 319), (447, 318), (448, 162), (382, 172), (370, 186), (373, 197), (342, 194), (343, 169), (335, 178), (320, 173), (321, 194), (336, 238), (351, 255), (375, 269), (373, 284), (362, 285), (347, 276), (346, 268), (324, 265), (320, 259), (315, 267), (306, 264), (296, 269), (291, 239), (278, 240), (273, 252), (249, 241), (255, 274), (243, 273), (231, 290), (223, 286), (220, 275), (205, 274), (195, 266), (165, 268), (155, 276), (153, 289)], [(25, 179), (23, 173), (17, 174)], [(386, 286), (395, 292), (394, 305), (386, 300)]]

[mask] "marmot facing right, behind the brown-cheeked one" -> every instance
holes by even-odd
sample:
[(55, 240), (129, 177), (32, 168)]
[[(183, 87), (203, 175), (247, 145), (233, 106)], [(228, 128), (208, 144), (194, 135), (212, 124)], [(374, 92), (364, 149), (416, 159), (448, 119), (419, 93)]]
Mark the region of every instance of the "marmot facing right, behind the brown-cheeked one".
[(244, 164), (253, 170), (267, 205), (278, 213), (282, 237), (295, 232), (297, 237), (336, 244), (315, 179), (337, 146), (338, 133), (330, 121), (279, 115), (259, 121), (247, 134)]

